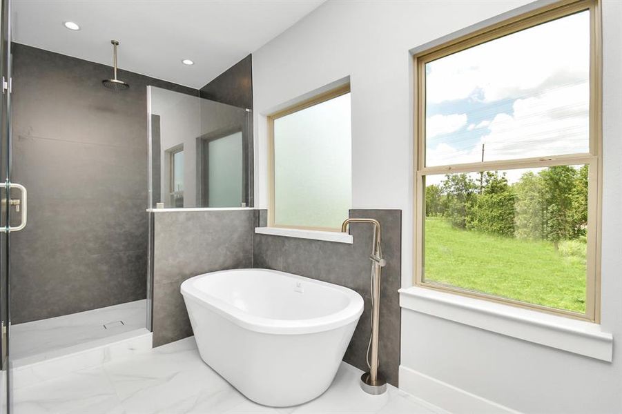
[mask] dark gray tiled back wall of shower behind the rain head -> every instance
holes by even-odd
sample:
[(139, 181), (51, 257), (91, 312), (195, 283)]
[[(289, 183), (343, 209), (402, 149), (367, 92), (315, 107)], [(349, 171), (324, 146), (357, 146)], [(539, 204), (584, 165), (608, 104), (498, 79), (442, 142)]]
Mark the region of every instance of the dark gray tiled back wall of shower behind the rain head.
[(146, 295), (146, 86), (198, 90), (13, 45), (13, 181), (28, 226), (12, 235), (12, 323)]

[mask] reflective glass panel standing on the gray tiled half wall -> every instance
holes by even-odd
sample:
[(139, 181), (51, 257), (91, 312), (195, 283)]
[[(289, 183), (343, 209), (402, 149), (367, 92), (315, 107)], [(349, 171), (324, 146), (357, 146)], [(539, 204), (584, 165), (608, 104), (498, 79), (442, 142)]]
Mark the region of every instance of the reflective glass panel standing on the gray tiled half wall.
[(148, 87), (151, 208), (253, 206), (246, 108)]

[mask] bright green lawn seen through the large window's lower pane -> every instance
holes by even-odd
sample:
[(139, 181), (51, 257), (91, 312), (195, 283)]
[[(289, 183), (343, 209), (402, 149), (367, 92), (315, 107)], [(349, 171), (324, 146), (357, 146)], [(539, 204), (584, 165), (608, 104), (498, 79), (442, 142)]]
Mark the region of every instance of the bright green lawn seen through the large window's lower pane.
[(585, 253), (581, 252), (581, 246), (579, 249), (562, 247), (556, 251), (551, 242), (460, 230), (444, 219), (429, 217), (425, 220), (424, 277), (428, 281), (584, 313)]

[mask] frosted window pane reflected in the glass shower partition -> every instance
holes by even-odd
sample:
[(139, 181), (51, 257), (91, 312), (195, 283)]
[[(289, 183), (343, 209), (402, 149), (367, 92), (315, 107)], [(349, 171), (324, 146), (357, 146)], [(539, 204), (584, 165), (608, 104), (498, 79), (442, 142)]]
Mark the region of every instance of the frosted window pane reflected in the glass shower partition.
[(242, 132), (208, 144), (208, 207), (242, 203)]

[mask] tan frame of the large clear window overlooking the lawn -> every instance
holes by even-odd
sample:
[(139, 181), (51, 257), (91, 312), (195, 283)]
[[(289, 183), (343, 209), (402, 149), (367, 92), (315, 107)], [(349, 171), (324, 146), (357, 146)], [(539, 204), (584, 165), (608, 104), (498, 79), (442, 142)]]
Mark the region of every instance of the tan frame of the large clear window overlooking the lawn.
[[(566, 17), (581, 11), (590, 11), (590, 152), (585, 154), (558, 155), (552, 157), (534, 157), (509, 161), (483, 161), (468, 164), (449, 164), (425, 166), (425, 64), (462, 50), (478, 46), (481, 43), (498, 39), (507, 34), (538, 26), (554, 19)], [(417, 53), (414, 59), (414, 284), (423, 288), (441, 290), (448, 293), (485, 299), (501, 304), (518, 306), (535, 311), (552, 313), (564, 317), (600, 323), (601, 299), (601, 199), (602, 186), (602, 39), (601, 10), (598, 0), (560, 1), (543, 8), (538, 8), (520, 16), (496, 23), (467, 34), (457, 39)], [(564, 309), (550, 308), (538, 304), (529, 304), (516, 299), (509, 299), (449, 286), (435, 282), (426, 282), (424, 268), (424, 232), (425, 232), (425, 176), (460, 172), (480, 172), (489, 170), (510, 170), (516, 168), (538, 168), (547, 166), (588, 164), (587, 197), (587, 273), (585, 285), (585, 313)]]

